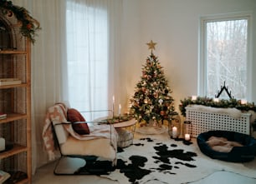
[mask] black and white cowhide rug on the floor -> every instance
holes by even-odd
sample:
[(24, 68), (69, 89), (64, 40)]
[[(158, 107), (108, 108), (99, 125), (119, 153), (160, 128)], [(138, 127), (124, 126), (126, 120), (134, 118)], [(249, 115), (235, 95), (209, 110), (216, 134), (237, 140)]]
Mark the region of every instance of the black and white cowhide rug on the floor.
[(200, 152), (196, 139), (191, 144), (161, 135), (136, 134), (133, 145), (120, 149), (114, 172), (101, 175), (125, 183), (188, 183), (213, 172), (234, 172), (256, 178), (256, 159), (248, 163), (213, 160)]

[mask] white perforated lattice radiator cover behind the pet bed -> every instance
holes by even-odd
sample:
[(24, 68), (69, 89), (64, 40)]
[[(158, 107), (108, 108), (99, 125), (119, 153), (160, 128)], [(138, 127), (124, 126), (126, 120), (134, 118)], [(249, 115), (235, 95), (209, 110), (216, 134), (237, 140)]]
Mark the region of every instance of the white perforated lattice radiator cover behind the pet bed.
[[(241, 112), (239, 117), (232, 117), (220, 108), (186, 107), (186, 120), (192, 122), (189, 132), (192, 137), (197, 137), (202, 132), (211, 130), (234, 131), (250, 134), (250, 113)], [(213, 111), (212, 111), (213, 109)], [(218, 109), (218, 111), (214, 111)]]

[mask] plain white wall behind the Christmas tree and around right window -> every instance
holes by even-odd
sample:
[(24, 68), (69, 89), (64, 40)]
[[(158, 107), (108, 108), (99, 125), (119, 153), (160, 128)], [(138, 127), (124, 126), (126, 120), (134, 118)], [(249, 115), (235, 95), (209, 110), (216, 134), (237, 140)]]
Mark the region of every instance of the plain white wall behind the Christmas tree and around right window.
[[(256, 27), (255, 0), (124, 0), (120, 72), (123, 105), (141, 80), (142, 64), (150, 54), (146, 42), (152, 39), (157, 42), (154, 53), (164, 67), (179, 112), (181, 99), (197, 95), (199, 18), (228, 12), (253, 12)], [(255, 38), (253, 42), (256, 45)], [(255, 60), (254, 53), (254, 71)], [(256, 94), (256, 85), (253, 92)]]

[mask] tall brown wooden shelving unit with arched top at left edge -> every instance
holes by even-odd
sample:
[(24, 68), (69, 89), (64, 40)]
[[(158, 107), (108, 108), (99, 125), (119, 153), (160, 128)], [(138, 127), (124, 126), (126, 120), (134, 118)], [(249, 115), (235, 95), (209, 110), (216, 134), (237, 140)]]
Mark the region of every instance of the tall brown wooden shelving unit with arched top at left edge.
[(0, 120), (0, 137), (6, 142), (0, 170), (21, 176), (14, 183), (31, 183), (31, 43), (19, 32), (14, 15), (0, 11), (0, 28), (0, 78), (21, 81), (0, 85), (0, 112), (7, 114)]

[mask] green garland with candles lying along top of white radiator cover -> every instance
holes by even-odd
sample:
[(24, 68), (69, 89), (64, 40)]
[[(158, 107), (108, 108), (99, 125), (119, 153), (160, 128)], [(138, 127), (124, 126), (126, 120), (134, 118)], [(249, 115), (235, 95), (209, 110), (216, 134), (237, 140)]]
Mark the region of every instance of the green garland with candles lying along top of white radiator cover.
[(181, 100), (179, 106), (183, 117), (186, 117), (186, 107), (188, 105), (202, 105), (207, 107), (217, 107), (217, 108), (237, 108), (240, 111), (252, 110), (256, 112), (256, 107), (253, 103), (241, 104), (241, 100), (236, 100), (231, 98), (229, 100), (221, 99), (219, 102), (214, 102), (213, 98), (209, 97), (197, 97), (196, 100), (192, 100), (192, 97), (185, 98)]

